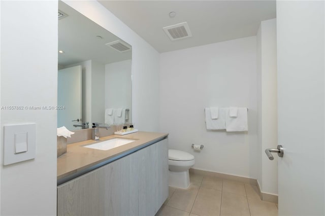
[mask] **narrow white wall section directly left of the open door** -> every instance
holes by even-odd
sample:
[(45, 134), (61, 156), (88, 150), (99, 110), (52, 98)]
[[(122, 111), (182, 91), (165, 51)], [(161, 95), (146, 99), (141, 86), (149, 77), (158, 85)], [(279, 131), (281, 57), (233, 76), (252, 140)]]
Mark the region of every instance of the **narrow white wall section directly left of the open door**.
[[(259, 27), (261, 56), (258, 64), (259, 74), (259, 110), (258, 135), (261, 136), (259, 146), (262, 156), (262, 179), (258, 181), (261, 191), (268, 194), (278, 194), (278, 157), (275, 154), (271, 161), (265, 154), (266, 149), (274, 149), (278, 145), (277, 128), (277, 69), (276, 69), (276, 19), (261, 22)], [(273, 153), (274, 154), (274, 153)]]

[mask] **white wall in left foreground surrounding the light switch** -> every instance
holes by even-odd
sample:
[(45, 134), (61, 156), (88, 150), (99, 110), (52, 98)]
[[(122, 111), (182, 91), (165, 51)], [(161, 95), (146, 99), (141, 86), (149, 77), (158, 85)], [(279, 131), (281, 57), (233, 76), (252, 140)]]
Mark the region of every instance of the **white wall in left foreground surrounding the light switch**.
[[(1, 105), (56, 105), (57, 2), (0, 4)], [(24, 122), (36, 123), (36, 157), (7, 166), (1, 161), (0, 213), (55, 215), (56, 111), (2, 110), (1, 136), (5, 124)]]

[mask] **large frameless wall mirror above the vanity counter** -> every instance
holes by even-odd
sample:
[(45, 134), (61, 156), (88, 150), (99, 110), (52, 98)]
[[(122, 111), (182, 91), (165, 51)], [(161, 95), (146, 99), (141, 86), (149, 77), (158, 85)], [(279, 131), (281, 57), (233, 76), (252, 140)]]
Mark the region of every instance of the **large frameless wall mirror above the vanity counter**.
[(58, 4), (57, 127), (131, 123), (131, 45), (67, 4)]

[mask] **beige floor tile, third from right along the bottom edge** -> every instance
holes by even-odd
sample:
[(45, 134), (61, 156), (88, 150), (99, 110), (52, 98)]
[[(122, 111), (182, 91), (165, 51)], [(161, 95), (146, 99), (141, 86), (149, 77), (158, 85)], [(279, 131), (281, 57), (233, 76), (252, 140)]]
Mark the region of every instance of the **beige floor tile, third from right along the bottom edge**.
[(191, 213), (197, 215), (219, 215), (221, 191), (201, 187)]

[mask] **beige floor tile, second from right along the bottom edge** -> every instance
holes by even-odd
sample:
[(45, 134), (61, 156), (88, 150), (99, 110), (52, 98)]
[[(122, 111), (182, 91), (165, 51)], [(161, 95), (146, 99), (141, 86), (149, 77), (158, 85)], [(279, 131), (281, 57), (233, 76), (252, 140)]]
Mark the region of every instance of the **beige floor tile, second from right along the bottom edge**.
[(223, 191), (220, 215), (250, 215), (247, 197)]

